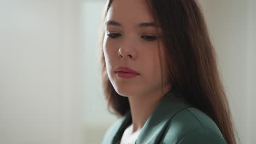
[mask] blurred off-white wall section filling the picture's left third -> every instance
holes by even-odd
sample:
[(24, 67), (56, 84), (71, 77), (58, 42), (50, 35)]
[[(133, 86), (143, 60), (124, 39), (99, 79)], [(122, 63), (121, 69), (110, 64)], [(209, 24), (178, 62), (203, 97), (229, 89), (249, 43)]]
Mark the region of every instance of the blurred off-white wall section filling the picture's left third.
[(78, 6), (0, 1), (1, 144), (83, 143)]

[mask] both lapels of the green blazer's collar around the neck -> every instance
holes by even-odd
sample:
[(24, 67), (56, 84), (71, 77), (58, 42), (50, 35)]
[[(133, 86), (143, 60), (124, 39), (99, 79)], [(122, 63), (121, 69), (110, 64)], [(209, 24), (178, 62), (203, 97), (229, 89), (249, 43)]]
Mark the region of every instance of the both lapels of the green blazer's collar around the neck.
[[(190, 107), (187, 101), (184, 100), (181, 93), (176, 89), (167, 92), (160, 100), (158, 106), (149, 116), (144, 124), (136, 143), (158, 143), (161, 136), (164, 134), (170, 119), (179, 111)], [(125, 128), (131, 123), (131, 111), (128, 111), (123, 116), (118, 124), (118, 128), (113, 137), (112, 143), (116, 143), (121, 139)]]

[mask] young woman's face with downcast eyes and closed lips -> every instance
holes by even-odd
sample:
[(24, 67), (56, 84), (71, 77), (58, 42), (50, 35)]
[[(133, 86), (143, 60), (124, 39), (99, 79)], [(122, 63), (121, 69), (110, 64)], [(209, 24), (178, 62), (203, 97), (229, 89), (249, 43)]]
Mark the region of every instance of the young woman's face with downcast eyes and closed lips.
[[(159, 52), (164, 68), (165, 47), (161, 29), (154, 23), (146, 1), (113, 1), (105, 22), (103, 53), (107, 74), (115, 91), (125, 97), (161, 91)], [(127, 69), (119, 67), (129, 67), (137, 74), (125, 73)], [(166, 87), (164, 69), (163, 74)]]

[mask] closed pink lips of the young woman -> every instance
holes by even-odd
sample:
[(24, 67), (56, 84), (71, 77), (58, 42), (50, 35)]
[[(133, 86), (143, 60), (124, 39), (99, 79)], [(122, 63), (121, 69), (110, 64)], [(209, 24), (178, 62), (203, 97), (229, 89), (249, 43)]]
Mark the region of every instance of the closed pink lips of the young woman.
[(117, 74), (118, 77), (123, 78), (123, 79), (130, 79), (132, 77), (140, 75), (137, 71), (135, 71), (129, 67), (118, 67), (114, 71), (114, 73)]

